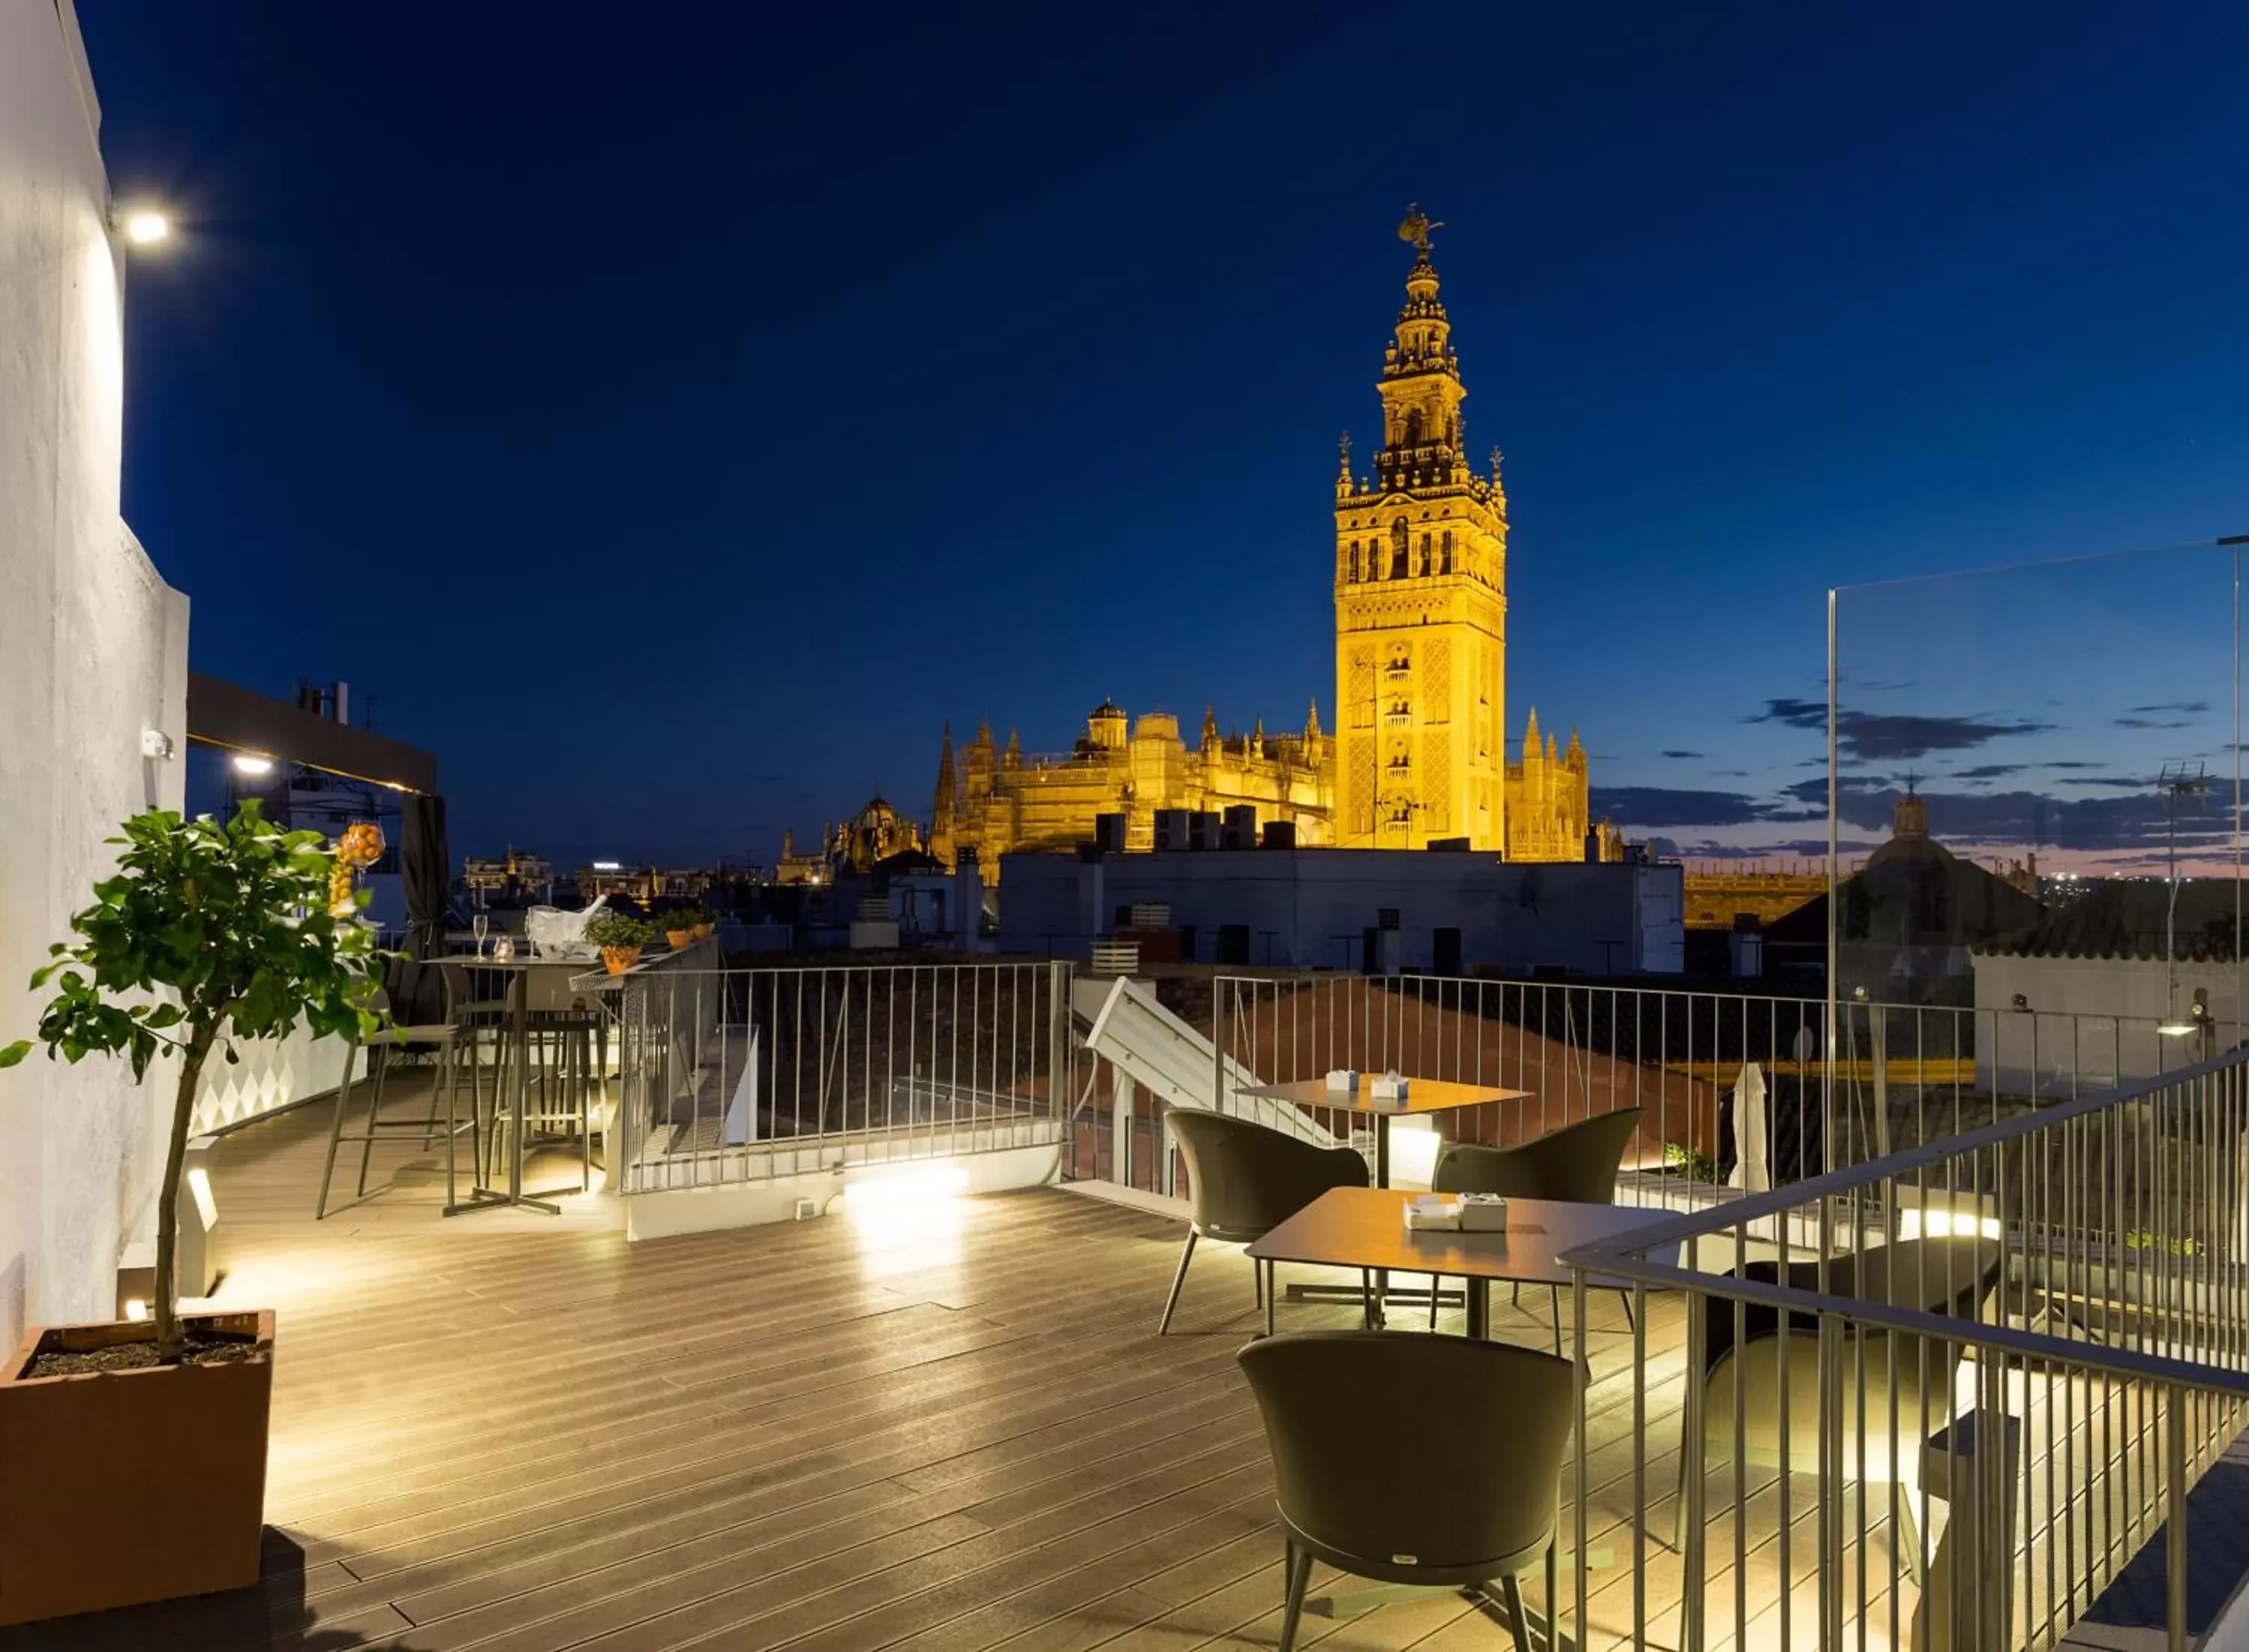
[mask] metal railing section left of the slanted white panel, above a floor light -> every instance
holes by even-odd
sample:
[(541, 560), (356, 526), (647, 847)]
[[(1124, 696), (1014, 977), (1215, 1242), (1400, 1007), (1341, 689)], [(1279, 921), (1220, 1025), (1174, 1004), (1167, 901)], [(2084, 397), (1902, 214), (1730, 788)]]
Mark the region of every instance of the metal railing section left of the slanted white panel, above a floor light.
[(616, 993), (612, 1184), (726, 1187), (1062, 1140), (1071, 966), (659, 971)]

